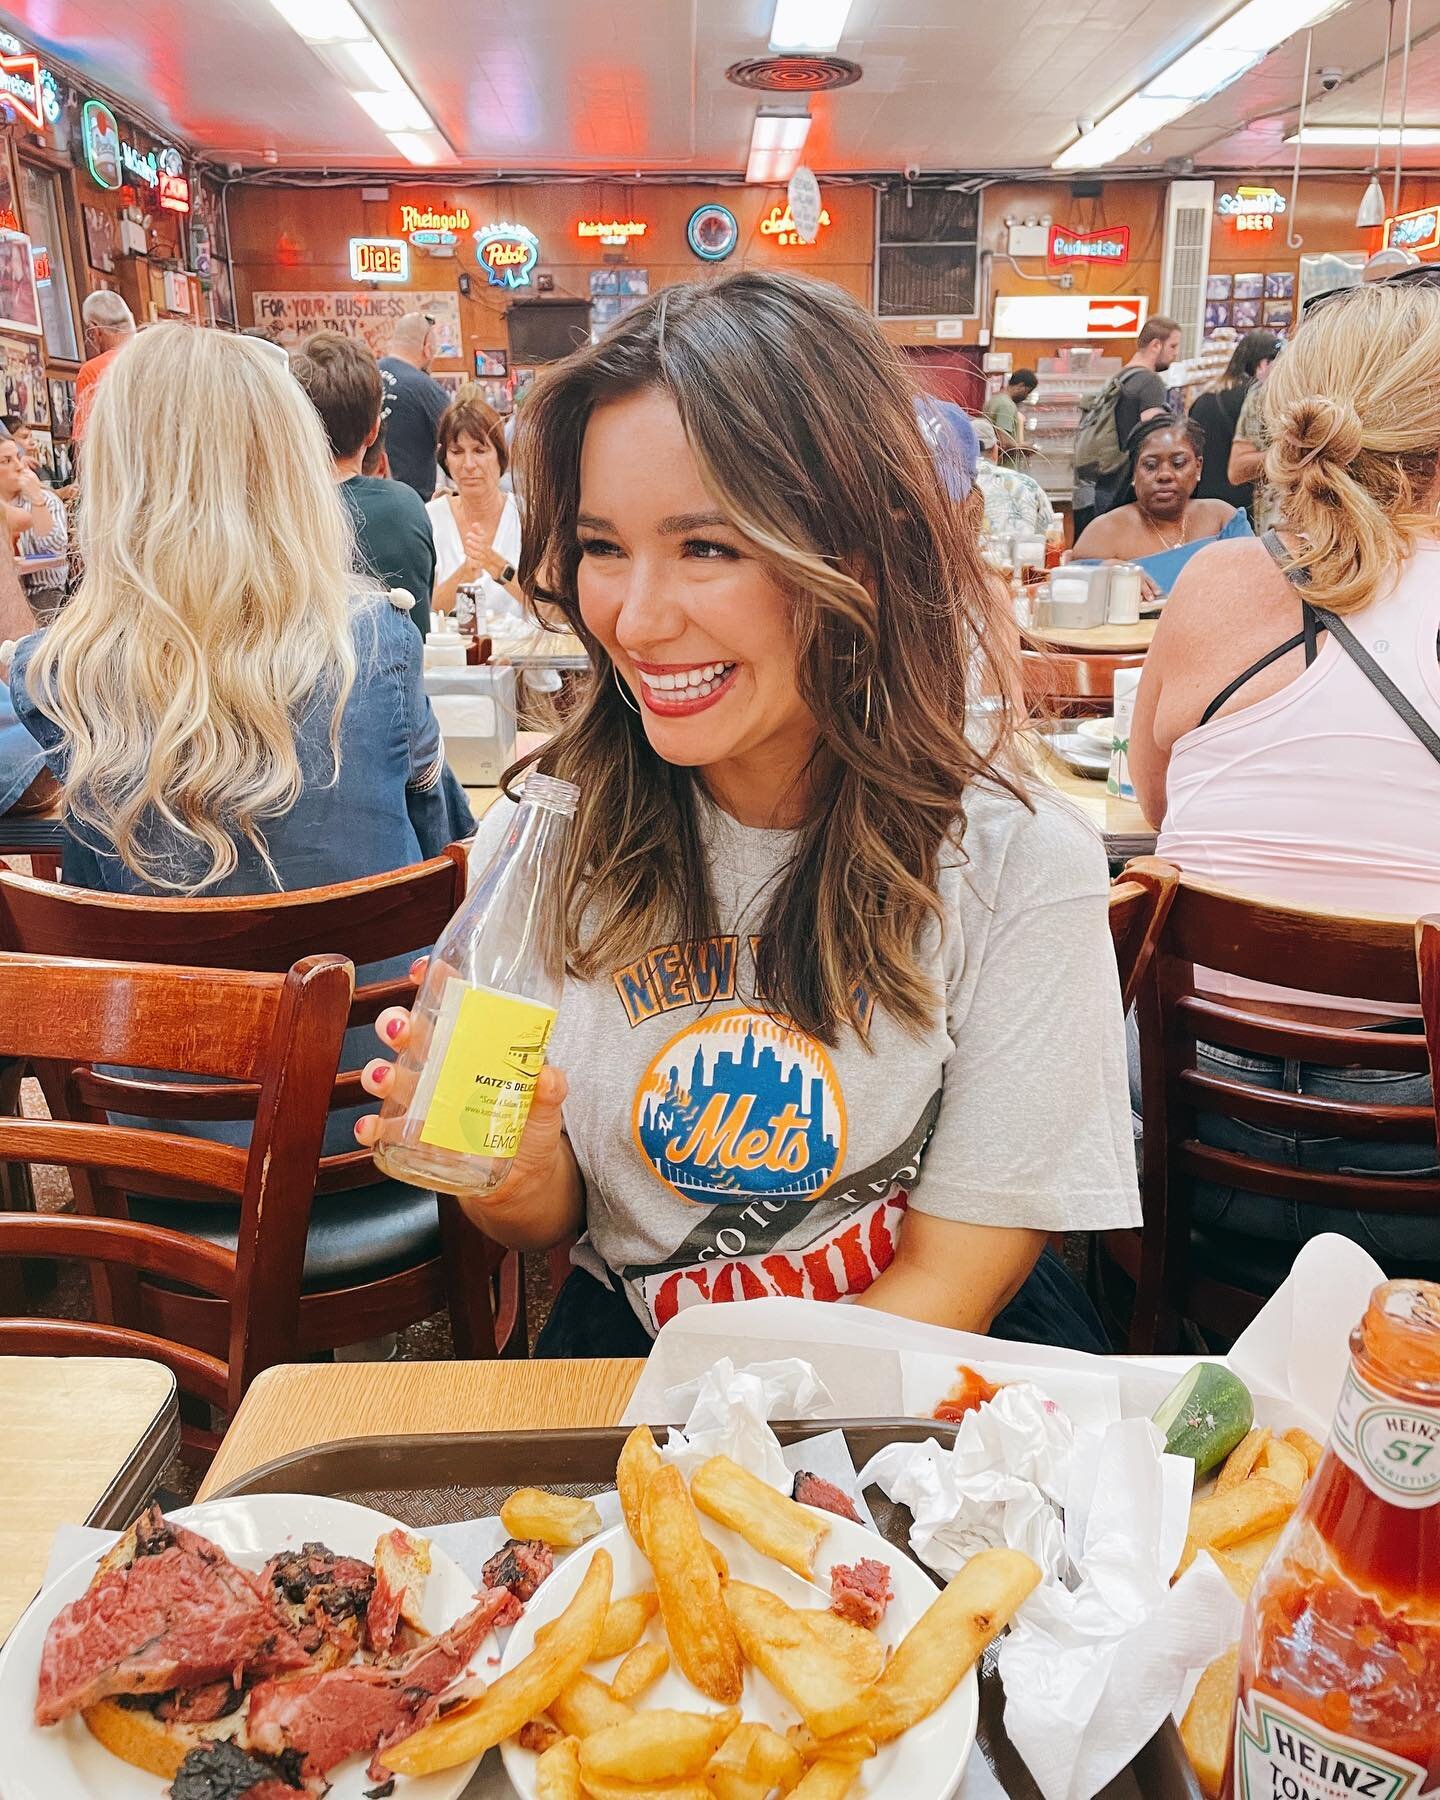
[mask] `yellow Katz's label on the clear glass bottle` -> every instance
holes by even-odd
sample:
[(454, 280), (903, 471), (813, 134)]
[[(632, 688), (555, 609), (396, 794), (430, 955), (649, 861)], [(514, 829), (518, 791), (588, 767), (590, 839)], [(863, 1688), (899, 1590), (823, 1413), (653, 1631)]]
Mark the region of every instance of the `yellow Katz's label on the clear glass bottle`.
[(419, 1141), (461, 1156), (515, 1156), (553, 1024), (553, 1006), (468, 988)]

